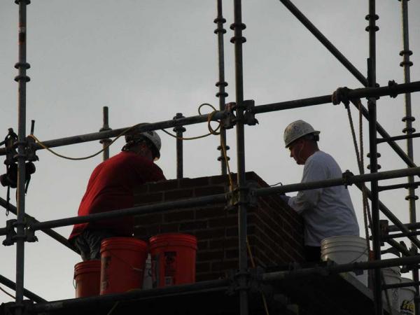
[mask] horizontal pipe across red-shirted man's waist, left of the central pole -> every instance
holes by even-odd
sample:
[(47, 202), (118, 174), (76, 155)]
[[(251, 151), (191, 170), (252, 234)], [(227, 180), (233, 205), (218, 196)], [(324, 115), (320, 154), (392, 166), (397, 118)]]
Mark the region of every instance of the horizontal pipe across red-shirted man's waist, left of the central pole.
[(204, 206), (208, 204), (217, 204), (226, 201), (225, 194), (210, 195), (206, 197), (196, 197), (188, 200), (176, 200), (174, 202), (162, 202), (159, 204), (148, 204), (141, 207), (132, 207), (113, 211), (102, 212), (99, 214), (90, 214), (89, 216), (73, 216), (70, 218), (62, 218), (58, 220), (45, 221), (39, 223), (29, 223), (31, 230), (44, 230), (47, 228), (59, 228), (77, 223), (95, 222), (104, 219), (120, 218), (123, 216), (136, 216), (141, 214), (151, 214), (172, 209), (182, 209)]

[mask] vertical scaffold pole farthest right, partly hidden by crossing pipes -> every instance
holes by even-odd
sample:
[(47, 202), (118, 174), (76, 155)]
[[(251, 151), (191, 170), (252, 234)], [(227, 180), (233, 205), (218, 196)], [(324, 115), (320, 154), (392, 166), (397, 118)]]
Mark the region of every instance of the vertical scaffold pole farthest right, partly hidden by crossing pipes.
[[(402, 50), (400, 51), (400, 56), (402, 56), (402, 62), (400, 66), (404, 69), (404, 83), (409, 83), (410, 78), (410, 71), (409, 67), (413, 65), (413, 63), (409, 60), (409, 56), (412, 55), (412, 51), (409, 50), (409, 35), (408, 35), (408, 0), (398, 0), (401, 2), (401, 15), (402, 15)], [(402, 132), (407, 134), (413, 134), (416, 130), (412, 127), (412, 122), (415, 118), (412, 116), (412, 102), (411, 102), (411, 93), (405, 94), (405, 117), (402, 118), (402, 121), (405, 122), (405, 128)], [(413, 139), (407, 139), (407, 155), (411, 160), (414, 160), (413, 154)], [(408, 183), (414, 183), (414, 176), (409, 176)], [(408, 188), (408, 195), (405, 197), (405, 200), (409, 202), (409, 223), (416, 222), (416, 200), (419, 197), (416, 196), (415, 188), (410, 187)], [(417, 253), (417, 248), (412, 244), (412, 251)], [(418, 282), (419, 281), (419, 269), (414, 268), (412, 272), (413, 280)], [(416, 296), (419, 297), (419, 285), (415, 286), (416, 288)], [(420, 303), (419, 299), (414, 299), (414, 303), (416, 305), (416, 315), (420, 315)]]

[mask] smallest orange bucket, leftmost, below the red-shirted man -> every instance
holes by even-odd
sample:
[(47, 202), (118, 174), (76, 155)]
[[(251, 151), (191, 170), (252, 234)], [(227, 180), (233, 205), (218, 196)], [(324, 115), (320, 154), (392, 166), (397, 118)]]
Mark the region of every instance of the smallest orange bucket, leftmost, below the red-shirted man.
[(74, 288), (77, 297), (99, 295), (101, 260), (86, 260), (74, 265)]

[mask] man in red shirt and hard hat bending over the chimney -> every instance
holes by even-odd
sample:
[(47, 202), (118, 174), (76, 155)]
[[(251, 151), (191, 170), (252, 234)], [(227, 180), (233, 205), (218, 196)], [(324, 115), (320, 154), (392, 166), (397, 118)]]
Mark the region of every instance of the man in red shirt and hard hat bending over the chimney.
[[(99, 164), (87, 183), (78, 216), (134, 207), (133, 188), (147, 182), (163, 181), (162, 169), (153, 161), (160, 158), (161, 141), (154, 131), (125, 136), (122, 152)], [(69, 237), (83, 260), (100, 259), (102, 239), (131, 237), (132, 216), (112, 218), (73, 226)]]

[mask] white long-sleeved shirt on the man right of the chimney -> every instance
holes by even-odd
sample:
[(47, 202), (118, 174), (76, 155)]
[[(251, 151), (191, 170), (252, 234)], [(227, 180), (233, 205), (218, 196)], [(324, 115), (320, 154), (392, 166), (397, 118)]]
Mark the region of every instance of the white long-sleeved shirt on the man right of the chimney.
[[(342, 177), (331, 155), (316, 151), (304, 163), (302, 183)], [(321, 240), (336, 235), (359, 235), (349, 191), (344, 186), (303, 190), (288, 205), (304, 220), (304, 244), (321, 246)]]

